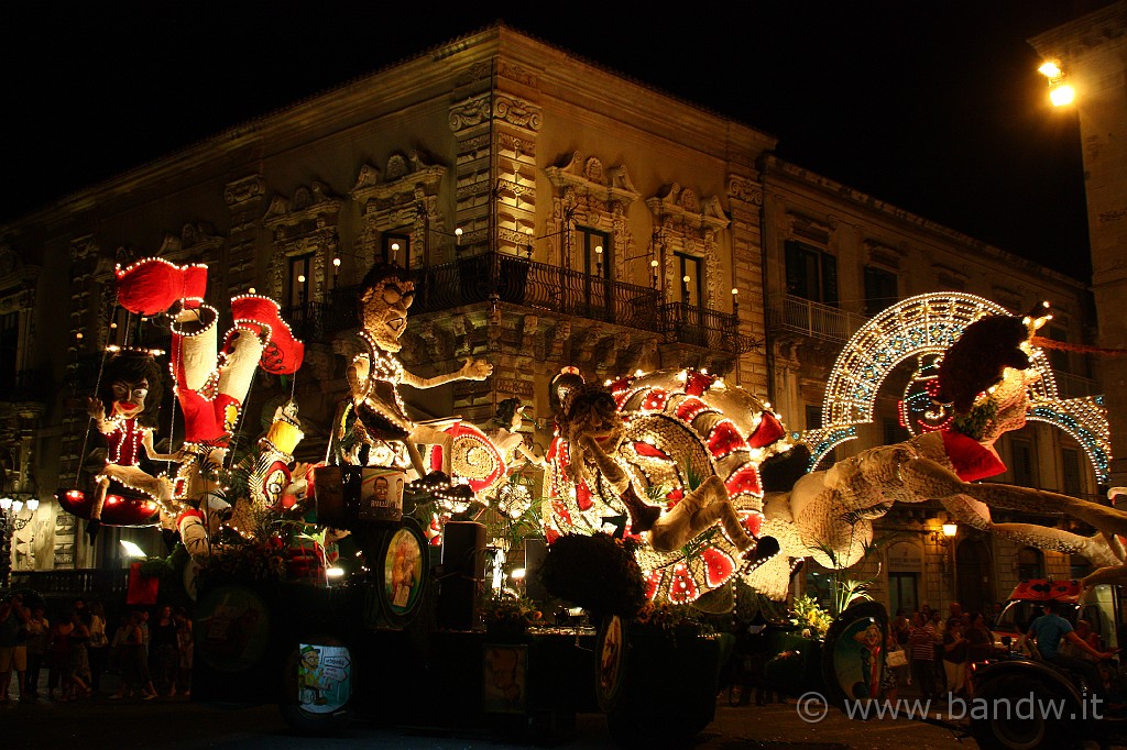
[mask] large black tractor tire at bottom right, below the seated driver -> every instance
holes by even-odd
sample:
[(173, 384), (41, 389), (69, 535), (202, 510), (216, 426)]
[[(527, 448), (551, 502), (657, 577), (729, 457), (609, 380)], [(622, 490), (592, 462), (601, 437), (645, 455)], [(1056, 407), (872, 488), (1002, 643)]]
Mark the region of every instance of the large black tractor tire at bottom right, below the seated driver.
[(994, 706), (1006, 705), (1009, 702), (1011, 711), (1017, 706), (1018, 700), (1028, 698), (1033, 694), (1038, 700), (1067, 700), (1065, 704), (1065, 715), (1068, 712), (1079, 709), (1070, 705), (1068, 700), (1055, 686), (1031, 680), (1028, 676), (996, 677), (982, 682), (975, 695), (975, 703), (979, 699), (990, 706), (990, 716), (985, 718), (970, 720), (970, 734), (975, 738), (982, 750), (1065, 750), (1077, 748), (1083, 738), (1077, 736), (1076, 722), (1068, 720), (1048, 720), (1040, 712), (1033, 711), (1031, 718), (1017, 718), (1009, 712), (995, 709)]

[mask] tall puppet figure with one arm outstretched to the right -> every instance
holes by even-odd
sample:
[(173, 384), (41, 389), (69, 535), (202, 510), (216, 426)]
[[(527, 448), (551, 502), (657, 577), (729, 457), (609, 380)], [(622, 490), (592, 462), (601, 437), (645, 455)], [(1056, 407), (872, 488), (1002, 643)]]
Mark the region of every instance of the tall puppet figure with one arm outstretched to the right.
[(415, 302), (411, 274), (399, 266), (376, 264), (365, 275), (361, 288), (358, 336), (367, 350), (353, 358), (347, 375), (356, 420), (363, 428), (369, 452), (385, 452), (390, 464), (383, 465), (414, 466), (421, 477), (427, 470), (415, 446), (440, 445), (443, 472), (449, 476), (453, 437), (411, 420), (399, 386), (433, 389), (453, 381), (483, 381), (492, 374), (492, 365), (470, 357), (461, 369), (447, 375), (419, 377), (410, 373), (396, 355), (402, 348), (399, 339), (407, 330), (407, 310)]

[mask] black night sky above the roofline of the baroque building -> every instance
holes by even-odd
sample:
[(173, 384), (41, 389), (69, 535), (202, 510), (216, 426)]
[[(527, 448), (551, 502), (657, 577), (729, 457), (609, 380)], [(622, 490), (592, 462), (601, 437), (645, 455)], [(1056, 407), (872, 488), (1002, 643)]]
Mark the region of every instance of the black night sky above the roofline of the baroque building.
[(9, 3), (0, 221), (504, 19), (770, 133), (783, 159), (1089, 280), (1076, 115), (1049, 106), (1027, 39), (1104, 5)]

